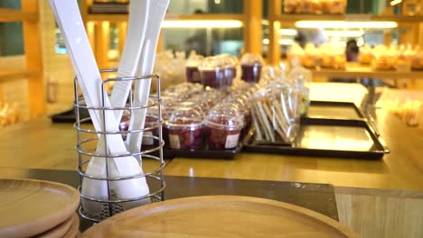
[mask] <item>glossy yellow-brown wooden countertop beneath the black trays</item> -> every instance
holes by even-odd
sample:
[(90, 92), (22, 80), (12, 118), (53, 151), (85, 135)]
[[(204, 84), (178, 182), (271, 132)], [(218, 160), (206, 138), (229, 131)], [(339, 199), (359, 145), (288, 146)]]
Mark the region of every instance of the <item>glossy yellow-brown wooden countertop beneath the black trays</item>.
[[(242, 152), (234, 160), (175, 158), (166, 175), (329, 183), (356, 188), (423, 191), (423, 136), (384, 111), (378, 124), (390, 154), (351, 160)], [(2, 129), (0, 168), (76, 169), (76, 131), (48, 118)], [(153, 165), (145, 160), (145, 169)]]

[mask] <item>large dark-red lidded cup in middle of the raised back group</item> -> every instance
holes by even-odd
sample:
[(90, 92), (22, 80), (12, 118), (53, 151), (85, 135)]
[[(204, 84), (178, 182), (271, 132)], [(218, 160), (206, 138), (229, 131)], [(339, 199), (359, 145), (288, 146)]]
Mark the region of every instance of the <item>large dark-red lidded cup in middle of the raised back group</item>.
[(221, 65), (221, 60), (216, 57), (206, 57), (199, 69), (202, 75), (202, 87), (224, 87), (225, 69)]

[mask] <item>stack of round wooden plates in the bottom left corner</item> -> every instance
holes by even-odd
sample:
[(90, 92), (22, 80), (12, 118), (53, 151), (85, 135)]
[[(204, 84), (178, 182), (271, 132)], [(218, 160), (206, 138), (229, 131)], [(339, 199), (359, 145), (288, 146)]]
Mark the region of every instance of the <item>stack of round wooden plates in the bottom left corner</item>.
[(0, 237), (75, 237), (77, 189), (50, 181), (0, 179)]

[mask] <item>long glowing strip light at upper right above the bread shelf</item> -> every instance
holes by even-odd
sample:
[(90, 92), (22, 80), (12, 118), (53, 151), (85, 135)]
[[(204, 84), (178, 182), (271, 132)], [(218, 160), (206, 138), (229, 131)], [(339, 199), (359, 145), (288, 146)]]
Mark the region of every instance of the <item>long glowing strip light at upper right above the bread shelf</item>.
[(298, 28), (396, 28), (395, 22), (298, 21)]

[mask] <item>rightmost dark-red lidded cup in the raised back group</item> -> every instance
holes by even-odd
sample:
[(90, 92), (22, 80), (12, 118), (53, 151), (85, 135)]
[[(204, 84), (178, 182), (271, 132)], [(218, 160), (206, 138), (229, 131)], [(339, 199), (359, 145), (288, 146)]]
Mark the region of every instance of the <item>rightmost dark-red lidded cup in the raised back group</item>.
[(263, 64), (263, 59), (258, 54), (244, 54), (240, 60), (241, 79), (249, 83), (258, 83)]

